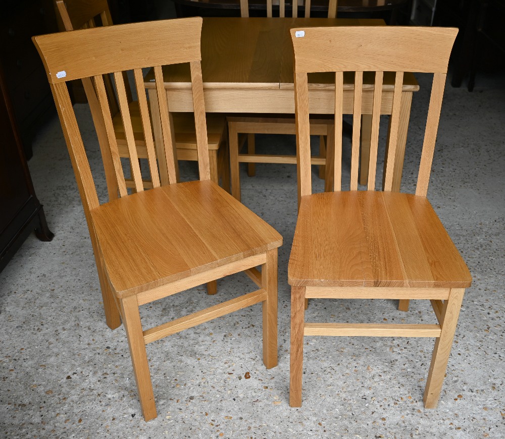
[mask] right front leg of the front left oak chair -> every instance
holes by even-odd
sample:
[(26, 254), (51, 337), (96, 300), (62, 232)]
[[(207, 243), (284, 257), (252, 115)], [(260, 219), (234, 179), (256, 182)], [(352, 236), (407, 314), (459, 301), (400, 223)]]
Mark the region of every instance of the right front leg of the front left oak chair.
[(261, 285), (267, 292), (263, 301), (263, 363), (270, 369), (277, 366), (277, 248), (267, 251)]

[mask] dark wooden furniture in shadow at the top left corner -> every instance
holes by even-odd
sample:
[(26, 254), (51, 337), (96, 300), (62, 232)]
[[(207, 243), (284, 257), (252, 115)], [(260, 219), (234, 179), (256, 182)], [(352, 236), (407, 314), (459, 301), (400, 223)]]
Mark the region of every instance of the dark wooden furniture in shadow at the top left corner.
[(27, 158), (42, 124), (56, 113), (44, 66), (31, 37), (58, 32), (53, 0), (2, 2), (0, 60)]

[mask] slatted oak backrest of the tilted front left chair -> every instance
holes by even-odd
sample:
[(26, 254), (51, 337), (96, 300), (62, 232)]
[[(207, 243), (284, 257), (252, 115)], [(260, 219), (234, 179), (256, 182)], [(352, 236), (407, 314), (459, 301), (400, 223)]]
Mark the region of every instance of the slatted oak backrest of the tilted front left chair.
[[(176, 183), (178, 176), (174, 131), (168, 111), (167, 94), (163, 85), (161, 66), (189, 63), (199, 178), (200, 180), (210, 179), (200, 65), (201, 24), (201, 18), (195, 17), (106, 26), (33, 37), (51, 84), (86, 214), (89, 210), (98, 206), (98, 197), (67, 89), (66, 82), (74, 79), (92, 78), (94, 81), (97, 92), (97, 105), (99, 105), (102, 112), (108, 138), (109, 156), (115, 171), (119, 194), (123, 197), (127, 196), (128, 192), (119, 158), (103, 75), (111, 73), (116, 83), (120, 112), (131, 158), (132, 177), (135, 190), (140, 192), (143, 190), (142, 179), (122, 73), (133, 70), (145, 134), (148, 168), (153, 186), (156, 188), (160, 186), (160, 183)], [(158, 159), (164, 160), (164, 164), (168, 169), (168, 181), (166, 182), (160, 181), (157, 156), (153, 136), (151, 135), (149, 108), (141, 70), (146, 67), (154, 67), (155, 71), (157, 105), (154, 105), (153, 102), (150, 102), (150, 104), (151, 111), (158, 112), (161, 119), (164, 154), (162, 157), (159, 155)], [(158, 148), (158, 151), (160, 151), (160, 148)]]

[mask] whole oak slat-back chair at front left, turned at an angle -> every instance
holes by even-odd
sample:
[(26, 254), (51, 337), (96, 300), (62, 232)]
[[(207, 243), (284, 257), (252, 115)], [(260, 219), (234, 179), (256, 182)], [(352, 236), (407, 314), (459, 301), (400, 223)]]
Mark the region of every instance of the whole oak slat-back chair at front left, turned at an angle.
[[(211, 180), (200, 66), (201, 18), (153, 21), (33, 37), (57, 104), (105, 300), (120, 308), (142, 413), (156, 417), (145, 345), (246, 306), (263, 304), (263, 361), (277, 364), (277, 248), (282, 237)], [(199, 181), (177, 183), (173, 126), (162, 65), (189, 62)], [(160, 186), (142, 68), (154, 67), (170, 184)], [(133, 70), (154, 189), (144, 191), (122, 72)], [(113, 73), (136, 193), (128, 195), (103, 75)], [(100, 205), (67, 81), (93, 78), (120, 198)], [(151, 111), (152, 111), (151, 107)], [(233, 228), (229, 225), (233, 224)], [(261, 265), (261, 272), (255, 267)], [(139, 306), (244, 271), (259, 286), (194, 314), (143, 330)], [(118, 314), (119, 315), (119, 314)], [(183, 355), (183, 353), (181, 353)]]

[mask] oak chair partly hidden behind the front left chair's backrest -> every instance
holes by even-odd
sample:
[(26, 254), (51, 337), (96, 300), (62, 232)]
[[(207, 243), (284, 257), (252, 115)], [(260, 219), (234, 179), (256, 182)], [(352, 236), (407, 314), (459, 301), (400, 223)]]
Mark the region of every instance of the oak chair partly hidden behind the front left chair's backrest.
[[(87, 29), (99, 26), (112, 25), (111, 13), (107, 0), (57, 0), (56, 5), (63, 24), (67, 31), (74, 29)], [(125, 83), (126, 99), (128, 102), (128, 110), (131, 118), (131, 125), (133, 130), (133, 138), (137, 149), (137, 157), (140, 160), (147, 160), (147, 149), (145, 143), (144, 129), (140, 118), (140, 110), (138, 100), (132, 97), (131, 87), (126, 72), (123, 74)], [(92, 80), (89, 78), (82, 79), (86, 98), (88, 100), (91, 116), (96, 126), (96, 132), (100, 145), (107, 144), (106, 129), (101, 116), (100, 108), (96, 99), (96, 90), (93, 86)], [(128, 142), (126, 139), (126, 132), (121, 117), (118, 99), (110, 75), (104, 75), (104, 83), (109, 98), (109, 106), (111, 108), (112, 124), (114, 133), (118, 144), (118, 152), (120, 157), (128, 158), (130, 160), (130, 153), (128, 150)], [(192, 113), (171, 113), (171, 118), (174, 124), (174, 138), (175, 147), (177, 149), (178, 160), (197, 160), (198, 154), (196, 149), (196, 133), (194, 117)], [(211, 169), (211, 180), (216, 183), (219, 177), (222, 177), (222, 185), (229, 192), (230, 191), (230, 164), (229, 164), (229, 149), (228, 149), (228, 135), (226, 130), (226, 119), (223, 115), (210, 113), (207, 115), (207, 143), (209, 145), (209, 161)], [(161, 150), (161, 141), (156, 141), (155, 135), (155, 150), (157, 154), (163, 155)], [(158, 146), (160, 145), (160, 146)], [(118, 188), (114, 178), (114, 169), (112, 166), (109, 154), (103, 149), (103, 161), (106, 179), (109, 189), (109, 198), (115, 199), (118, 196)], [(130, 162), (131, 170), (131, 162)], [(131, 172), (130, 172), (131, 174)], [(160, 177), (161, 183), (168, 182), (167, 169), (160, 162)], [(176, 179), (179, 180), (179, 171), (176, 167)], [(144, 188), (153, 187), (153, 182), (149, 178), (142, 179), (142, 186)], [(135, 184), (133, 179), (126, 179), (126, 187), (135, 191)], [(217, 293), (217, 283), (210, 282), (207, 285), (208, 294)]]

